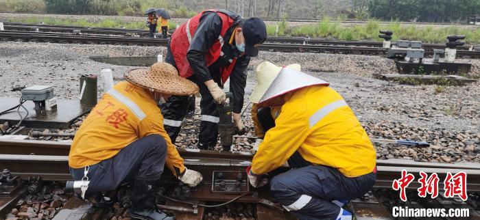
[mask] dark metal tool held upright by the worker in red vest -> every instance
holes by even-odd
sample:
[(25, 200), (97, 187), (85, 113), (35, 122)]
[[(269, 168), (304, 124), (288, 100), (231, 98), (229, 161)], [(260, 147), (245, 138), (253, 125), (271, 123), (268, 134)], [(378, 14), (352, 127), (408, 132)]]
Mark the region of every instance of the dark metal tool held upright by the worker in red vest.
[(232, 121), (233, 94), (227, 92), (226, 98), (228, 98), (228, 102), (225, 102), (224, 105), (218, 105), (217, 108), (219, 114), (218, 133), (220, 135), (220, 143), (221, 146), (224, 147), (224, 150), (228, 151), (233, 144), (233, 135), (237, 133), (237, 127), (235, 127)]

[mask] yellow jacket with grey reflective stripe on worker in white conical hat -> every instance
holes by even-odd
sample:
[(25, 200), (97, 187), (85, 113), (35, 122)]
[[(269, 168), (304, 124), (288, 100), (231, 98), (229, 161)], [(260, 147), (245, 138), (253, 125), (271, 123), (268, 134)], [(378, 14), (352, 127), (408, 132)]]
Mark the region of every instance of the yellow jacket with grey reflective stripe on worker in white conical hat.
[(335, 167), (348, 177), (374, 170), (376, 153), (344, 99), (331, 87), (315, 85), (285, 96), (285, 104), (252, 161), (265, 174), (298, 150), (306, 161)]

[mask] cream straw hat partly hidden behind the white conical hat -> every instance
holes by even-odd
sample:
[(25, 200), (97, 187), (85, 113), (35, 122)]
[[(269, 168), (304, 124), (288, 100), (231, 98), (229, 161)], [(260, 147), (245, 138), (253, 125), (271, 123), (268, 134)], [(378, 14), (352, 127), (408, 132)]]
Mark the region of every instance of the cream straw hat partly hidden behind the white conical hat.
[[(274, 81), (278, 72), (280, 72), (282, 68), (283, 67), (276, 66), (269, 61), (263, 61), (256, 67), (256, 85), (253, 88), (252, 95), (250, 95), (250, 102), (259, 103), (260, 98), (262, 98), (263, 94), (267, 91), (268, 87), (272, 84), (272, 81)], [(300, 64), (290, 64), (285, 66), (285, 68), (300, 71)]]

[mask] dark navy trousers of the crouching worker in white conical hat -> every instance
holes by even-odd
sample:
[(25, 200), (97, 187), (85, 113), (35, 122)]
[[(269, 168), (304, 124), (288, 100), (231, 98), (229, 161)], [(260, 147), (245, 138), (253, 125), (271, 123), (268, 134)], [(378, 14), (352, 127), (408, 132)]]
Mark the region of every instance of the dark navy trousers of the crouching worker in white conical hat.
[(309, 165), (275, 176), (270, 191), (278, 203), (300, 220), (335, 220), (341, 206), (368, 193), (375, 180), (373, 172), (349, 178), (333, 167)]

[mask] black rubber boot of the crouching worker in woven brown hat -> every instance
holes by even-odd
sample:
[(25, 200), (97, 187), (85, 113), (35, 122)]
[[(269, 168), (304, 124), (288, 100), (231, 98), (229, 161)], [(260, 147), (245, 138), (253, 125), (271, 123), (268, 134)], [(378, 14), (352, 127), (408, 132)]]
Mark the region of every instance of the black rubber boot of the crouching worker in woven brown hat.
[(155, 193), (158, 191), (157, 180), (135, 180), (132, 186), (132, 210), (130, 216), (141, 220), (173, 220), (158, 210), (155, 204)]

